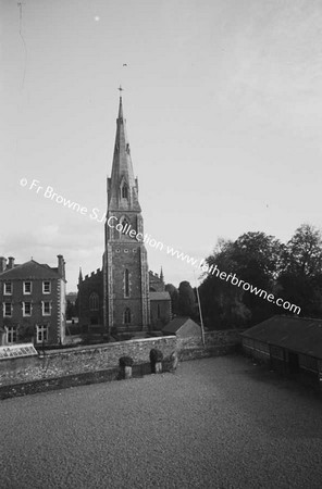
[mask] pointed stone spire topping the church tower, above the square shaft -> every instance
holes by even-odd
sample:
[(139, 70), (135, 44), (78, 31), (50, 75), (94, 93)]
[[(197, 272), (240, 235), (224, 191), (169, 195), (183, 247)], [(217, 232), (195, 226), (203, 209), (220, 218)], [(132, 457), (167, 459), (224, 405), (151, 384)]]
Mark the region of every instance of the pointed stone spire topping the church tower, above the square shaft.
[(122, 87), (120, 87), (119, 116), (111, 178), (108, 178), (108, 206), (110, 211), (140, 212), (138, 184), (134, 178), (126, 121), (123, 115)]

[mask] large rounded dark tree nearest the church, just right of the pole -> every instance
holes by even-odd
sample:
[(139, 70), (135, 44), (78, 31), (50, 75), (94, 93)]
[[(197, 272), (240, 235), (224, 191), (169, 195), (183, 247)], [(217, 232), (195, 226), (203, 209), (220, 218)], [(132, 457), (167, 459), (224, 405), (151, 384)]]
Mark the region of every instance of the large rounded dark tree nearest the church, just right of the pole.
[(208, 327), (242, 327), (259, 323), (275, 313), (262, 298), (221, 280), (219, 272), (235, 274), (251, 286), (272, 292), (281, 268), (283, 244), (264, 233), (246, 233), (236, 241), (220, 239), (213, 254), (206, 259), (216, 272), (205, 274), (200, 287), (201, 305)]

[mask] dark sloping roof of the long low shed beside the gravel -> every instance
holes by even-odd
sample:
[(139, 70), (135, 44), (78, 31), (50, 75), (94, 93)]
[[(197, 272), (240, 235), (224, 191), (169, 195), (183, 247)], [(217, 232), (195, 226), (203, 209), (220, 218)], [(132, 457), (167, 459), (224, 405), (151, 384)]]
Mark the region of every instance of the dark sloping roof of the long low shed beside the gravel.
[(322, 359), (322, 319), (276, 315), (242, 336)]

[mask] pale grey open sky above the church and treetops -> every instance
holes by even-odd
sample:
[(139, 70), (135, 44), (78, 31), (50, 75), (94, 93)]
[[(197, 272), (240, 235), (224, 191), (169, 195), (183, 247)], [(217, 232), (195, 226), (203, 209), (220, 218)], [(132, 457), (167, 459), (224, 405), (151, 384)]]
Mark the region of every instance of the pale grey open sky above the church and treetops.
[(1, 255), (63, 254), (67, 291), (101, 267), (90, 214), (107, 210), (120, 84), (166, 283), (196, 285), (166, 246), (202, 260), (219, 238), (321, 227), (320, 0), (2, 0), (0, 18)]

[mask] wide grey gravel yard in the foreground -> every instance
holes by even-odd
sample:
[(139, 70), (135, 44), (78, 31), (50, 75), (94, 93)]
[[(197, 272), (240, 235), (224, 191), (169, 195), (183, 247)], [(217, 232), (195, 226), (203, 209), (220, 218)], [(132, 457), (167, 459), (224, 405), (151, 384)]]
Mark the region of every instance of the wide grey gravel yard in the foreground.
[(8, 399), (0, 487), (321, 489), (321, 408), (238, 355)]

